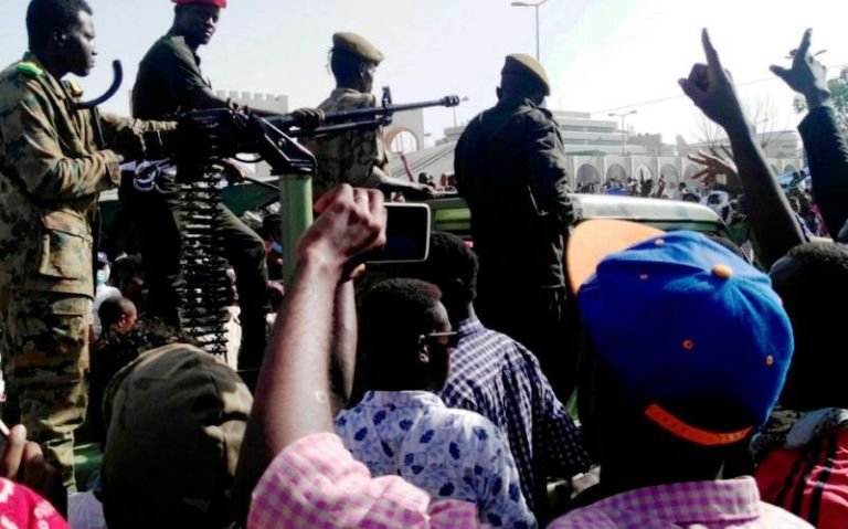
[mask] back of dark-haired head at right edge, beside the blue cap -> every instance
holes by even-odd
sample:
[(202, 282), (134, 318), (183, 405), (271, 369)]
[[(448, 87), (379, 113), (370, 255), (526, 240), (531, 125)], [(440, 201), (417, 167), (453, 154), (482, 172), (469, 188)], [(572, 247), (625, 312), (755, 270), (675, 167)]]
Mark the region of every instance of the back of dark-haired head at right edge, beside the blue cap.
[[(787, 257), (797, 266), (775, 277), (774, 289), (789, 315), (795, 355), (781, 404), (797, 411), (848, 408), (848, 352), (840, 346), (848, 321), (838, 305), (848, 299), (848, 245), (807, 243), (792, 248)], [(823, 301), (823, 296), (837, 305)]]

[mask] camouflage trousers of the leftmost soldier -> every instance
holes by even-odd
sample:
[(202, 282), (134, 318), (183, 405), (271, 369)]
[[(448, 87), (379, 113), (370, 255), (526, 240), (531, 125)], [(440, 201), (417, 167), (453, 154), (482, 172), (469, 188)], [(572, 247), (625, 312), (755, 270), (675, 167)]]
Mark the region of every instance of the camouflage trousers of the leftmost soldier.
[(26, 426), (45, 458), (74, 490), (74, 431), (88, 403), (89, 299), (15, 290), (6, 315), (7, 403), (3, 419)]

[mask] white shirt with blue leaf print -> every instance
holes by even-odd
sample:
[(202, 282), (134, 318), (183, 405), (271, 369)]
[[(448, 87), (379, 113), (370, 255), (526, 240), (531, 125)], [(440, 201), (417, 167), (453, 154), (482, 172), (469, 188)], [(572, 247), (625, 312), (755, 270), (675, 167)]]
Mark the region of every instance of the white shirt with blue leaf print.
[(374, 476), (399, 475), (434, 499), (477, 504), (492, 527), (536, 527), (502, 433), (427, 391), (369, 391), (336, 419), (353, 457)]

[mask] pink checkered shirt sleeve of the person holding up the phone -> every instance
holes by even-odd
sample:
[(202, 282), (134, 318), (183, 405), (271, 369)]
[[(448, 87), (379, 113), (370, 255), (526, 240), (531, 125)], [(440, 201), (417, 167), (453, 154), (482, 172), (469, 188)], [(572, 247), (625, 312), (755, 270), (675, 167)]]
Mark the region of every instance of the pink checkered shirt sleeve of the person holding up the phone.
[(485, 527), (477, 506), (431, 502), (399, 476), (372, 478), (336, 434), (316, 434), (287, 446), (253, 490), (248, 529)]

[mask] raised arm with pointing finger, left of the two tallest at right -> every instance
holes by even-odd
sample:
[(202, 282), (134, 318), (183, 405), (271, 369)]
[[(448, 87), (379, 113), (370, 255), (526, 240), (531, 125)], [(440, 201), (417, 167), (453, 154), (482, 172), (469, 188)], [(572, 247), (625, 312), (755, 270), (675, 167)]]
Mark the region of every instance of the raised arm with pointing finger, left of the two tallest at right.
[(730, 138), (739, 178), (748, 198), (748, 213), (766, 267), (793, 246), (806, 242), (788, 200), (772, 174), (765, 156), (753, 138), (730, 75), (707, 30), (702, 34), (707, 65), (696, 64), (680, 86), (703, 113)]

